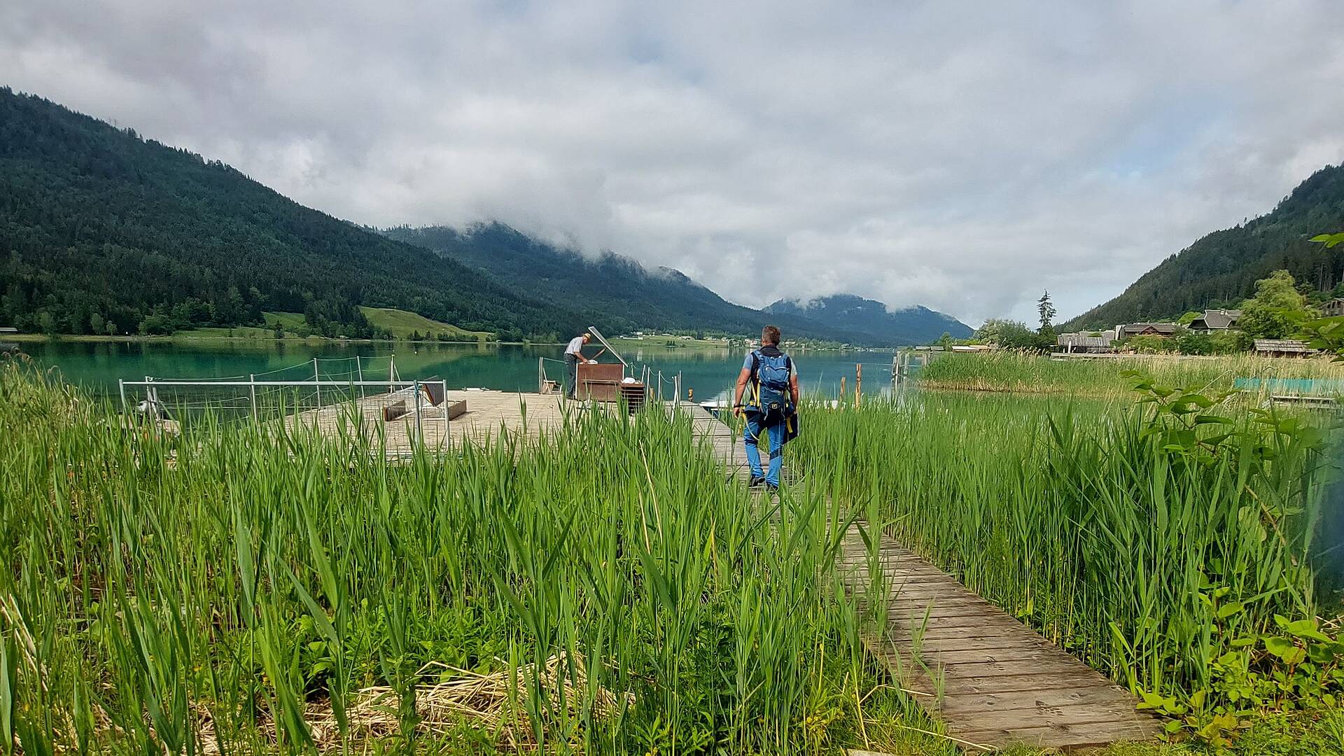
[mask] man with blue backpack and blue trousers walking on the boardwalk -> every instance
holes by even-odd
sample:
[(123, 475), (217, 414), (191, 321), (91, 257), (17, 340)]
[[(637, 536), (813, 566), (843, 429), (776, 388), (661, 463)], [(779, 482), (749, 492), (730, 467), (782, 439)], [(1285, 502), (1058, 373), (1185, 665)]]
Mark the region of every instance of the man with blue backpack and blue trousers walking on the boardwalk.
[[(780, 328), (766, 326), (761, 330), (761, 348), (742, 363), (732, 391), (732, 413), (746, 414), (747, 421), (742, 443), (751, 468), (750, 486), (763, 484), (770, 491), (780, 487), (784, 444), (798, 434), (798, 371), (789, 355), (780, 351)], [(770, 451), (766, 472), (761, 471), (762, 436), (769, 441)]]

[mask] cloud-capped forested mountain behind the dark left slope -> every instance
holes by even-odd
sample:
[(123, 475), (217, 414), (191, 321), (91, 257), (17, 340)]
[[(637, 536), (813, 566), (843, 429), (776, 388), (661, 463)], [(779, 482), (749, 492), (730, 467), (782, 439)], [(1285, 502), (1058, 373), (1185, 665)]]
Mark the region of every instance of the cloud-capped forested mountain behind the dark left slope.
[(769, 319), (784, 330), (786, 339), (895, 343), (884, 336), (853, 332), (792, 313), (767, 316), (759, 309), (724, 301), (679, 270), (649, 270), (629, 257), (613, 253), (589, 258), (534, 239), (503, 223), (485, 223), (462, 231), (445, 226), (402, 226), (384, 233), (485, 270), (528, 296), (575, 308), (585, 317), (610, 323), (618, 331), (659, 328), (759, 334)]

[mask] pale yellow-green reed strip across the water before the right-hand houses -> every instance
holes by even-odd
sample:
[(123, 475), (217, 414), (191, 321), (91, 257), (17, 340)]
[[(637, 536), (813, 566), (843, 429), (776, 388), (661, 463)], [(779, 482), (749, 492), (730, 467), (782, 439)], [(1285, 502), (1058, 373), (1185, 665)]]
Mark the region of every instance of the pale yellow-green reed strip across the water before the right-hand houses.
[(1126, 398), (1130, 382), (1122, 375), (1125, 370), (1142, 370), (1168, 386), (1210, 390), (1230, 389), (1236, 378), (1344, 379), (1344, 363), (1329, 358), (1289, 359), (1236, 354), (1050, 359), (1017, 351), (941, 355), (919, 369), (915, 379), (926, 389)]

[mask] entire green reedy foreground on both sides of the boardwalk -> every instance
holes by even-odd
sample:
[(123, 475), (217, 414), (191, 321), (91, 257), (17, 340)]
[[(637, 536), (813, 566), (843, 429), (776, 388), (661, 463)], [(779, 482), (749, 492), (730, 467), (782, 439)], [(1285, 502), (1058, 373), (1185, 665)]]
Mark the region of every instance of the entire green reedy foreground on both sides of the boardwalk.
[(0, 362), (0, 739), (952, 756), (859, 643), (833, 554), (862, 514), (1188, 708), (1183, 743), (1110, 756), (1344, 752), (1322, 698), (1344, 648), (1310, 635), (1331, 630), (1310, 424), (1219, 439), (1149, 405), (934, 393), (805, 412), (804, 483), (762, 510), (656, 408), (388, 465), (353, 429), (126, 433)]

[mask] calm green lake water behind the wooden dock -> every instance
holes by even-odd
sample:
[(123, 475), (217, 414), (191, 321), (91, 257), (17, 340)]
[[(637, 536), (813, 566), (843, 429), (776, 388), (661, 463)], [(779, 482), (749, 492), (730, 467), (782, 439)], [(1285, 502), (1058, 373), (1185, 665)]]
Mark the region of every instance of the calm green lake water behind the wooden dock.
[[(683, 389), (698, 398), (711, 398), (730, 389), (742, 367), (743, 350), (668, 348), (622, 346), (632, 374), (663, 373), (668, 381), (681, 374)], [(219, 342), (32, 342), (22, 350), (43, 367), (55, 367), (66, 381), (93, 391), (113, 394), (117, 381), (140, 381), (146, 375), (165, 378), (224, 378), (302, 381), (313, 377), (313, 359), (324, 379), (366, 381), (387, 378), (388, 362), (395, 362), (402, 379), (442, 378), (449, 389), (482, 387), (507, 391), (536, 391), (538, 358), (546, 358), (550, 378), (560, 379), (564, 365), (560, 346), (493, 346), (433, 343), (308, 343), (269, 340)], [(595, 354), (594, 346), (587, 354)], [(864, 391), (880, 391), (891, 382), (891, 352), (883, 351), (794, 351), (798, 377), (808, 393), (833, 394), (840, 377), (853, 390), (855, 365), (863, 363)], [(355, 356), (360, 356), (359, 371)], [(363, 359), (368, 358), (368, 359)], [(603, 355), (602, 362), (610, 361)], [(656, 381), (650, 378), (650, 389)]]

